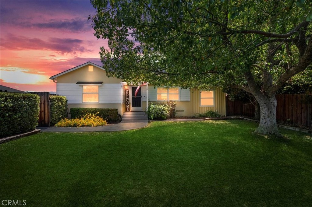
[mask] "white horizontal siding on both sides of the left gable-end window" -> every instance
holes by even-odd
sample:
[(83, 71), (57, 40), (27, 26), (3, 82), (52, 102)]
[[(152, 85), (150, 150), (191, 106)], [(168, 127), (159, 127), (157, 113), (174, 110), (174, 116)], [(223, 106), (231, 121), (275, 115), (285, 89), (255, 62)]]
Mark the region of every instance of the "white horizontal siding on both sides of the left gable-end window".
[[(67, 102), (82, 103), (82, 86), (73, 83), (57, 83), (56, 93), (66, 96)], [(102, 84), (99, 87), (99, 103), (120, 103), (121, 102), (120, 84)]]

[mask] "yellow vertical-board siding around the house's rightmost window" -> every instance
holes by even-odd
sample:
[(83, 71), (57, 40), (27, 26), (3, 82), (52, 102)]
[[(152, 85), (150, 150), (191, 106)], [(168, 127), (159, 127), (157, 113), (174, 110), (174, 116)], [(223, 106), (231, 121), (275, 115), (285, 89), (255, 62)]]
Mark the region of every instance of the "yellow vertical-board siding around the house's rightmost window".
[(214, 107), (200, 106), (199, 90), (191, 89), (191, 115), (205, 113), (206, 111), (218, 111), (222, 116), (226, 115), (225, 93), (216, 89), (214, 93)]

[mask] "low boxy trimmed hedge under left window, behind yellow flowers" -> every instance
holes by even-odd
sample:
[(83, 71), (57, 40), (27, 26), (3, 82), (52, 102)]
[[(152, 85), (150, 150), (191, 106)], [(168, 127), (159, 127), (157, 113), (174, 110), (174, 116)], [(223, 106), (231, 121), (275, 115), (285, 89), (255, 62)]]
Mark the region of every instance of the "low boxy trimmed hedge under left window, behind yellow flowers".
[(109, 122), (117, 121), (117, 108), (71, 108), (71, 118), (82, 118), (87, 113), (98, 113), (99, 117)]

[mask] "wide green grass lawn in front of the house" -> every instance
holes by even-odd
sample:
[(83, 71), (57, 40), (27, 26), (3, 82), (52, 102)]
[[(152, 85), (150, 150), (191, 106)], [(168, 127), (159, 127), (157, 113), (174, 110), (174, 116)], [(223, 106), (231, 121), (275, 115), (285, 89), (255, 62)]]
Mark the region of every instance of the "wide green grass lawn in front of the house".
[(1, 144), (1, 200), (27, 206), (311, 206), (312, 139), (242, 120), (40, 133)]

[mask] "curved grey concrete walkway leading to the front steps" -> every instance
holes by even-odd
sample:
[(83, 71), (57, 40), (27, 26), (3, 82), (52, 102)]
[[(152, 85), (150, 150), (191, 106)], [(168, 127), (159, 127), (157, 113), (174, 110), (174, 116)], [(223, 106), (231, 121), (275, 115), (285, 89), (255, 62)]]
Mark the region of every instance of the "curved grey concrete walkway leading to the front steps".
[(115, 132), (146, 127), (147, 121), (123, 122), (102, 127), (37, 127), (41, 132)]

